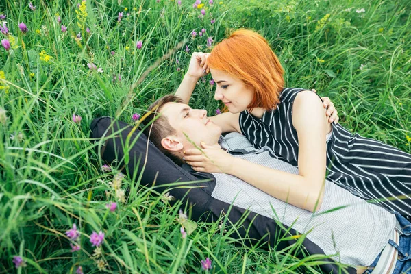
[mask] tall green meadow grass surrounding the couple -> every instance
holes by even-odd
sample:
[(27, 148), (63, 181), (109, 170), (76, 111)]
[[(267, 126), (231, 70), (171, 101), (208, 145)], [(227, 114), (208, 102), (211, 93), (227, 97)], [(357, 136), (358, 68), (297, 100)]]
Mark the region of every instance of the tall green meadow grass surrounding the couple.
[[(162, 193), (153, 195), (155, 190), (130, 179), (123, 181), (131, 193), (125, 203), (114, 213), (105, 208), (115, 199), (114, 193), (106, 195), (112, 176), (101, 172), (88, 139), (92, 119), (116, 116), (131, 123), (134, 112), (141, 114), (154, 99), (177, 89), (190, 53), (210, 51), (208, 37), (215, 43), (238, 27), (256, 29), (269, 40), (286, 69), (287, 86), (316, 88), (334, 101), (340, 123), (352, 132), (411, 152), (408, 0), (232, 0), (212, 6), (206, 1), (203, 19), (194, 2), (182, 0), (179, 7), (166, 0), (87, 0), (88, 34), (77, 26), (79, 2), (34, 0), (32, 11), (28, 1), (1, 1), (0, 14), (7, 15), (16, 44), (8, 52), (0, 48), (5, 73), (0, 84), (8, 87), (0, 89), (0, 108), (8, 116), (0, 123), (0, 273), (15, 271), (16, 255), (27, 262), (18, 273), (75, 273), (78, 265), (84, 273), (97, 273), (88, 238), (93, 230), (105, 232), (101, 258), (108, 272), (197, 273), (206, 257), (215, 273), (319, 272), (319, 262), (294, 258), (291, 249), (246, 247), (220, 223), (198, 223), (182, 239), (176, 220), (180, 204), (169, 206)], [(124, 12), (117, 23), (125, 8), (129, 16)], [(357, 13), (361, 8), (365, 12)], [(68, 27), (64, 35), (56, 13)], [(18, 29), (22, 21), (29, 29), (25, 35)], [(201, 28), (206, 35), (192, 39), (192, 30)], [(138, 40), (142, 49), (136, 49)], [(51, 55), (49, 62), (40, 60), (42, 50)], [(104, 72), (91, 72), (89, 62)], [(210, 79), (199, 82), (190, 103), (214, 114), (219, 105)], [(71, 121), (73, 113), (82, 116), (80, 125)], [(19, 133), (23, 140), (11, 140)], [(82, 232), (82, 250), (76, 253), (64, 234), (72, 223)]]

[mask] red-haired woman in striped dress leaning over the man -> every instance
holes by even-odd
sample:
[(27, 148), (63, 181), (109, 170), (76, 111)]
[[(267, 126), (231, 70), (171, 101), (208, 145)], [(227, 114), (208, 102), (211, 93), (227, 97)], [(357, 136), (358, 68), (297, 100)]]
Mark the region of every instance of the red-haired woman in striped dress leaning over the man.
[(210, 55), (195, 54), (176, 95), (188, 102), (196, 77), (210, 70), (217, 85), (214, 99), (229, 110), (212, 121), (223, 132), (245, 135), (258, 149), (269, 146), (277, 158), (298, 166), (299, 174), (251, 164), (206, 144), (203, 152), (186, 151), (186, 162), (195, 171), (229, 173), (310, 211), (321, 206), (326, 178), (354, 195), (411, 215), (411, 155), (351, 134), (332, 121), (335, 116), (324, 115), (327, 110), (315, 92), (284, 88), (284, 70), (260, 34), (240, 29)]

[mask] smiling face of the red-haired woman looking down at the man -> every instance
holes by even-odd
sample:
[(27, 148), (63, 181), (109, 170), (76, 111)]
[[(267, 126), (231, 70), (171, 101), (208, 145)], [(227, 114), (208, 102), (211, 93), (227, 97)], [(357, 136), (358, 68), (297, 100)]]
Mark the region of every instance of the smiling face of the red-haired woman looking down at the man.
[(247, 110), (254, 97), (252, 88), (225, 71), (218, 69), (210, 69), (210, 71), (217, 85), (214, 99), (223, 101), (229, 112), (238, 113)]

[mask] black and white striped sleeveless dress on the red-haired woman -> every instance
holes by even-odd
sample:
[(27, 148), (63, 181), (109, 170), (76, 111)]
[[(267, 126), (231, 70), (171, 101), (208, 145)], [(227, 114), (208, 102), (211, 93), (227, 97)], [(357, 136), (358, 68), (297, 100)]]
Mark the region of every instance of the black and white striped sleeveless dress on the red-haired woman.
[[(292, 103), (300, 88), (284, 88), (275, 110), (261, 119), (240, 113), (240, 129), (254, 147), (269, 146), (277, 157), (298, 167), (297, 131), (292, 125)], [(327, 140), (329, 181), (353, 195), (381, 203), (389, 210), (411, 215), (411, 154), (332, 123)]]

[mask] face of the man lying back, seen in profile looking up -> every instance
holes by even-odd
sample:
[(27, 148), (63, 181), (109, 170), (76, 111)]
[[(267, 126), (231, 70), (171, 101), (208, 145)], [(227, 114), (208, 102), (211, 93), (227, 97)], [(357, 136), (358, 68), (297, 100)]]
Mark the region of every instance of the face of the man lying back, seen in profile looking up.
[(215, 145), (219, 141), (221, 127), (208, 119), (206, 110), (193, 110), (184, 103), (166, 103), (161, 113), (177, 132), (184, 149), (194, 147), (192, 142), (201, 147), (201, 142)]

